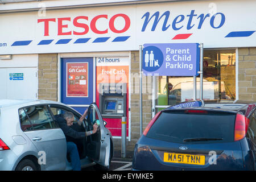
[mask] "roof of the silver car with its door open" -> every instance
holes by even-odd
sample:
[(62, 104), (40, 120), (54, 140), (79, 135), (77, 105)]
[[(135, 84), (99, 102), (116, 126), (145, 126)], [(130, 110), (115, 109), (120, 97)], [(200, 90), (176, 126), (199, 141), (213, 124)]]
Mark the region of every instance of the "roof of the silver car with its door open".
[(38, 105), (38, 104), (61, 104), (56, 101), (47, 101), (47, 100), (0, 100), (1, 107), (23, 107), (26, 105)]

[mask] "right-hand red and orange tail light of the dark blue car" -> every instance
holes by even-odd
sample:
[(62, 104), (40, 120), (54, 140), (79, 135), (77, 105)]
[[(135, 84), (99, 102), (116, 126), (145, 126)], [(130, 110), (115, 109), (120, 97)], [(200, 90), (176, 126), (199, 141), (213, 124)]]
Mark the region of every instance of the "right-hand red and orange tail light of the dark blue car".
[(245, 137), (249, 126), (250, 119), (246, 118), (245, 115), (237, 114), (235, 129), (234, 129), (234, 140), (238, 141)]

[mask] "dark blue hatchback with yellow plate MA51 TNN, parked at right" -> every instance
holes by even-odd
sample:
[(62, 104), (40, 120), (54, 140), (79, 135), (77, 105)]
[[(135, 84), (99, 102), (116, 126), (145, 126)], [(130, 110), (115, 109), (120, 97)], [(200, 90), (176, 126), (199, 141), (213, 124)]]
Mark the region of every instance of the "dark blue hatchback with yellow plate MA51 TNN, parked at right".
[(133, 170), (255, 170), (256, 103), (183, 102), (159, 111), (134, 148)]

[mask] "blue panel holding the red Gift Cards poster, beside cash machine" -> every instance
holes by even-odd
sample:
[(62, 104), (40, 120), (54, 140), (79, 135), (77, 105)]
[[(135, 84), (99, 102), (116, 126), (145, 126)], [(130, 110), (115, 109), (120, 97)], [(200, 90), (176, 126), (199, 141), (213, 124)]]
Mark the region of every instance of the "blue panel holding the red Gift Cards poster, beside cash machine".
[(61, 102), (84, 113), (94, 102), (93, 57), (61, 60)]

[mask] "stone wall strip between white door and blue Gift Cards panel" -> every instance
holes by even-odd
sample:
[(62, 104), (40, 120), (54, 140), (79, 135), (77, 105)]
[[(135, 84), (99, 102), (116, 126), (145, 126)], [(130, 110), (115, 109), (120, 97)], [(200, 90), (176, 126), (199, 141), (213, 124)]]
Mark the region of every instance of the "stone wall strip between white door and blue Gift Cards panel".
[(38, 98), (57, 101), (57, 54), (38, 55)]

